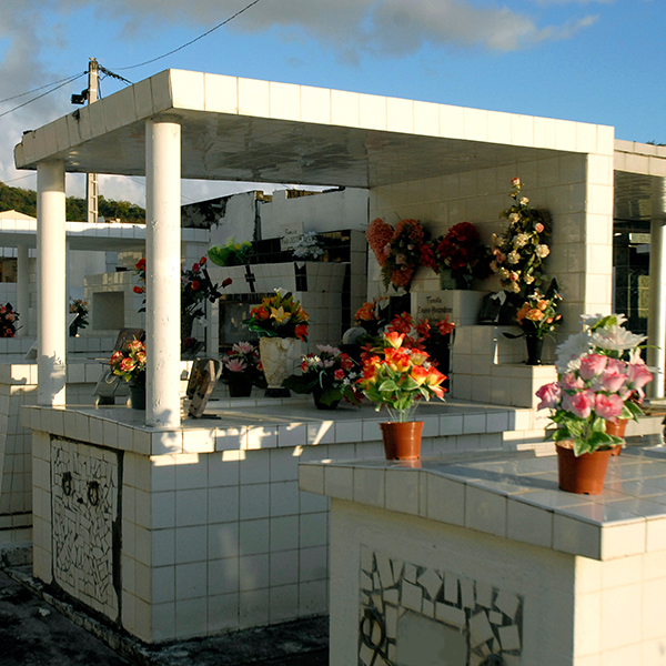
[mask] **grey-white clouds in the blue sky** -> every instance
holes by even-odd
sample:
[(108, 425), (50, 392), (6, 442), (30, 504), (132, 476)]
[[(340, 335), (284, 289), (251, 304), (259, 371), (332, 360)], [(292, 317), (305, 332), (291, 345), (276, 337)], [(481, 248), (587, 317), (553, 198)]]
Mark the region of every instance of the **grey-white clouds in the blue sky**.
[[(534, 0), (539, 4), (585, 3), (605, 0)], [(147, 30), (190, 26), (195, 34), (241, 10), (249, 0), (6, 0), (0, 3), (0, 99), (56, 81), (67, 73), (52, 71), (58, 52), (71, 48), (64, 26), (80, 20), (80, 10), (94, 11), (109, 26), (105, 38), (122, 47)], [(508, 7), (507, 7), (508, 6)], [(565, 40), (587, 28), (596, 17), (537, 26), (525, 12), (472, 0), (262, 0), (230, 28), (262, 32), (278, 28), (285, 39), (314, 38), (334, 49), (345, 63), (365, 54), (401, 58), (424, 44), (514, 51), (545, 40)], [(203, 42), (202, 42), (203, 43)], [(173, 44), (174, 47), (180, 44)], [(150, 56), (148, 57), (150, 58)], [(84, 88), (81, 79), (81, 88)], [(40, 127), (71, 111), (67, 94), (51, 94), (20, 111), (0, 118), (0, 180), (26, 175), (13, 168), (13, 145), (24, 130)], [(77, 89), (79, 90), (79, 89)], [(0, 114), (32, 95), (0, 103)], [(80, 179), (79, 179), (80, 180)], [(81, 190), (73, 179), (77, 194)], [(16, 181), (18, 185), (30, 180)], [(31, 185), (27, 185), (31, 186)], [(139, 196), (138, 185), (104, 180), (110, 198)], [(205, 188), (201, 186), (203, 192)], [(124, 194), (123, 194), (124, 192)], [(193, 191), (192, 191), (193, 193)], [(142, 195), (142, 194), (141, 194)]]

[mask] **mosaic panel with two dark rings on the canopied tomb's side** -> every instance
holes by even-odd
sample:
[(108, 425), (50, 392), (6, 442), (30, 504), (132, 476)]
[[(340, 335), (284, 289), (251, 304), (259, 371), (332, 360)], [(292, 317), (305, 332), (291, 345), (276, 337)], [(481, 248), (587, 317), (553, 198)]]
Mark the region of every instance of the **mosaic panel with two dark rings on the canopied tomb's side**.
[(51, 455), (53, 578), (118, 619), (119, 453), (52, 437)]

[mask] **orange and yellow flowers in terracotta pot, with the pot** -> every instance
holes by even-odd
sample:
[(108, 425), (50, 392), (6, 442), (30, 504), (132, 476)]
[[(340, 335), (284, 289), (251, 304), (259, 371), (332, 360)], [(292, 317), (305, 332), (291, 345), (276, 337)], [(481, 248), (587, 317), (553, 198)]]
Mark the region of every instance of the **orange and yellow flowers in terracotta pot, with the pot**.
[(405, 346), (405, 334), (384, 333), (380, 346), (365, 357), (357, 380), (363, 394), (379, 412), (386, 407), (390, 423), (381, 423), (386, 458), (415, 460), (421, 453), (422, 421), (413, 421), (423, 400), (444, 398), (446, 379), (416, 346)]

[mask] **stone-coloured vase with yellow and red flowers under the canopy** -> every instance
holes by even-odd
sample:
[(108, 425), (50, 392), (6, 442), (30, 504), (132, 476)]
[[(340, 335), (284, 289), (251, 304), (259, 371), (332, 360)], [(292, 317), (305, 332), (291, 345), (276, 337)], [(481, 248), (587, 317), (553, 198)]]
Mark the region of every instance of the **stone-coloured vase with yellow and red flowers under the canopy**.
[(269, 397), (287, 397), (282, 382), (293, 374), (299, 363), (299, 340), (307, 340), (307, 313), (291, 292), (276, 289), (250, 311), (243, 324), (259, 333), (261, 364), (266, 377)]

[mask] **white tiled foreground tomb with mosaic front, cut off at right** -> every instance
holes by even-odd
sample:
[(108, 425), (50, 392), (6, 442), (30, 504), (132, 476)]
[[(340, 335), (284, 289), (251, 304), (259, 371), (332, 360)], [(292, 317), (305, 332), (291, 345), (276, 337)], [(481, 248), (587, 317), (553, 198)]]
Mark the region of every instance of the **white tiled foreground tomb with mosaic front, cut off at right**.
[(302, 464), (331, 497), (331, 665), (664, 664), (665, 478), (664, 446), (598, 496), (535, 452)]

